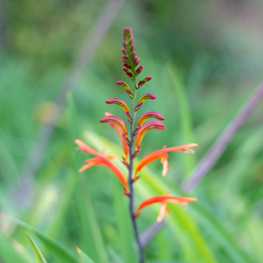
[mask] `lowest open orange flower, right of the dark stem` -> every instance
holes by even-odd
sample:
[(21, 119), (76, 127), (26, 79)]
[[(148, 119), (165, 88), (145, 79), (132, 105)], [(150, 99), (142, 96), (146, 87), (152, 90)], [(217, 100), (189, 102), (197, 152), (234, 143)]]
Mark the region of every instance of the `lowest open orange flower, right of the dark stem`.
[(161, 222), (164, 218), (165, 212), (167, 211), (169, 214), (169, 210), (165, 203), (174, 203), (179, 205), (187, 205), (188, 202), (191, 201), (197, 201), (196, 198), (193, 197), (184, 197), (184, 196), (170, 196), (169, 192), (167, 192), (165, 195), (155, 195), (149, 198), (144, 199), (138, 206), (134, 217), (139, 216), (140, 210), (145, 208), (148, 205), (154, 204), (154, 203), (161, 203), (161, 209), (159, 212), (159, 215), (157, 217), (157, 221)]

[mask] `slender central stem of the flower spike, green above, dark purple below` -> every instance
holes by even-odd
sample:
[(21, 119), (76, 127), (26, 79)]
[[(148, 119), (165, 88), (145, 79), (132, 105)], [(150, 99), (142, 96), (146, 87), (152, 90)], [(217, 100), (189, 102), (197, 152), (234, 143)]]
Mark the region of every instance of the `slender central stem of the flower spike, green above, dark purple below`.
[(134, 218), (134, 189), (133, 189), (133, 145), (134, 145), (134, 125), (135, 125), (135, 119), (136, 119), (136, 111), (135, 111), (135, 107), (136, 107), (136, 95), (137, 95), (137, 87), (136, 87), (136, 73), (135, 70), (133, 70), (133, 98), (132, 98), (132, 120), (130, 123), (130, 145), (129, 145), (129, 158), (130, 158), (130, 164), (129, 164), (129, 177), (128, 177), (128, 184), (129, 184), (129, 189), (130, 189), (130, 194), (129, 194), (129, 198), (130, 198), (130, 202), (129, 202), (129, 210), (130, 210), (130, 217), (131, 217), (131, 222), (133, 225), (133, 229), (134, 229), (134, 233), (135, 233), (135, 238), (136, 238), (136, 242), (138, 245), (138, 249), (139, 249), (139, 262), (140, 263), (144, 263), (144, 252), (143, 252), (143, 247), (141, 245), (140, 242), (140, 237), (139, 237), (139, 231), (138, 231), (138, 227), (136, 224), (136, 220)]

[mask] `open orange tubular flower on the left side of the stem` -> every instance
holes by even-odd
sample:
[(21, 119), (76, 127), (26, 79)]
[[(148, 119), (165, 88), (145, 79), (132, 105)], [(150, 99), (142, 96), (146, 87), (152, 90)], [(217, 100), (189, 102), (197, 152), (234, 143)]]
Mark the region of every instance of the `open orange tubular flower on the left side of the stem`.
[(85, 151), (87, 153), (90, 153), (94, 156), (96, 156), (97, 158), (91, 158), (88, 160), (85, 160), (86, 163), (88, 164), (84, 164), (82, 166), (82, 168), (79, 169), (79, 172), (83, 172), (84, 170), (87, 170), (88, 168), (96, 165), (105, 165), (107, 166), (110, 170), (113, 171), (113, 173), (117, 176), (117, 178), (119, 179), (119, 181), (122, 183), (122, 185), (124, 186), (124, 190), (125, 190), (125, 194), (129, 193), (129, 188), (128, 188), (128, 184), (127, 184), (127, 178), (124, 175), (123, 171), (120, 170), (120, 168), (118, 166), (116, 166), (114, 163), (112, 163), (109, 159), (112, 159), (114, 156), (105, 156), (101, 153), (98, 153), (97, 151), (95, 151), (94, 149), (92, 149), (90, 146), (88, 146), (87, 144), (85, 144), (83, 141), (76, 139), (75, 143), (79, 146), (79, 149), (82, 151)]

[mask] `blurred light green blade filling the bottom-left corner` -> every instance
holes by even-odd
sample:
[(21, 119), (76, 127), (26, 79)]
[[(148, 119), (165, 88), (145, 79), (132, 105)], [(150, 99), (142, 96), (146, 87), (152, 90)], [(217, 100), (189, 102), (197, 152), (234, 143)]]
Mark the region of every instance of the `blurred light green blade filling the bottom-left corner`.
[[(1, 261), (3, 260), (3, 261)], [(11, 245), (10, 241), (0, 232), (0, 262), (4, 263), (28, 263)]]

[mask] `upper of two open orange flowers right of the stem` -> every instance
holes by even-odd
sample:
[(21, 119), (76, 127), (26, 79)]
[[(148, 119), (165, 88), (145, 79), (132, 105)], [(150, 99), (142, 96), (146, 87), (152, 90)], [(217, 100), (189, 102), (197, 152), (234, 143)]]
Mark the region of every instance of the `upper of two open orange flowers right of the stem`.
[(163, 176), (166, 175), (168, 169), (170, 168), (168, 164), (168, 154), (167, 152), (169, 151), (182, 151), (184, 153), (194, 153), (193, 150), (189, 149), (192, 147), (196, 147), (198, 144), (196, 143), (188, 143), (180, 146), (175, 146), (175, 147), (170, 147), (166, 148), (165, 146), (163, 149), (153, 151), (143, 157), (143, 159), (140, 160), (138, 163), (136, 170), (135, 170), (135, 175), (134, 175), (134, 180), (137, 179), (137, 173), (147, 164), (150, 162), (156, 160), (156, 159), (161, 159), (161, 163), (163, 164)]

